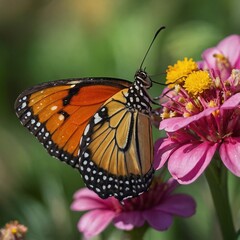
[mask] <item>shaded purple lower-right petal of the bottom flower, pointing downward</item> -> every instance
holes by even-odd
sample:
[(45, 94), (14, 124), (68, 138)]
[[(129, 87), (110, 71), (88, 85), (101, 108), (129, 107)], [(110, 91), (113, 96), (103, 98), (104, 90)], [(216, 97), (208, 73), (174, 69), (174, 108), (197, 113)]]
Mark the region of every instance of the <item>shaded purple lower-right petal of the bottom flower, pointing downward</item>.
[(171, 214), (158, 210), (144, 211), (143, 216), (149, 225), (158, 231), (167, 230), (173, 222), (173, 216)]

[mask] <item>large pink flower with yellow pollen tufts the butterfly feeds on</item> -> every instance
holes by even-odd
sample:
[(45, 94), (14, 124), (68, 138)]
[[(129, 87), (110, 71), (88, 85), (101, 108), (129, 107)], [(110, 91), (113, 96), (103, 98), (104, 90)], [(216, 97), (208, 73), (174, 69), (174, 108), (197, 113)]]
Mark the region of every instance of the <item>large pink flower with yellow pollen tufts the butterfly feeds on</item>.
[(232, 35), (203, 53), (198, 64), (178, 61), (167, 70), (155, 168), (168, 161), (178, 182), (198, 178), (216, 152), (240, 176), (240, 36)]

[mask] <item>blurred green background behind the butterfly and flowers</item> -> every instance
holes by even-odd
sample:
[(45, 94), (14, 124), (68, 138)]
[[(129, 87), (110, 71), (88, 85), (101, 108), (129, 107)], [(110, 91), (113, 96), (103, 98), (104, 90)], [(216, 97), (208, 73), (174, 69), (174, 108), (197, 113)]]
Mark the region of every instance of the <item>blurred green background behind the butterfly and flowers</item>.
[[(77, 171), (51, 158), (23, 128), (13, 105), (25, 88), (55, 79), (113, 76), (133, 80), (155, 31), (163, 31), (144, 66), (155, 81), (178, 59), (240, 34), (239, 0), (0, 0), (0, 226), (19, 220), (26, 239), (81, 239), (80, 213), (69, 208), (82, 187)], [(151, 95), (161, 92), (159, 86)], [(160, 136), (154, 130), (154, 138)], [(230, 176), (235, 224), (240, 226), (240, 184)], [(197, 213), (175, 219), (167, 232), (146, 239), (221, 239), (204, 176), (180, 191), (193, 194)], [(96, 239), (121, 239), (113, 227)]]

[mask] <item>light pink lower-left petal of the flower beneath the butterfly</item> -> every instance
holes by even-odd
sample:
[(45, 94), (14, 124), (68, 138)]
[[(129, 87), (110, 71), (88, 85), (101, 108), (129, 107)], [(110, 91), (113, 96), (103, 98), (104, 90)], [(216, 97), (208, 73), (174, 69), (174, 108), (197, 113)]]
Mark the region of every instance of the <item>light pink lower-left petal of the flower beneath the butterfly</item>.
[(93, 210), (84, 214), (78, 222), (78, 229), (90, 238), (102, 232), (113, 220), (115, 213), (106, 210)]

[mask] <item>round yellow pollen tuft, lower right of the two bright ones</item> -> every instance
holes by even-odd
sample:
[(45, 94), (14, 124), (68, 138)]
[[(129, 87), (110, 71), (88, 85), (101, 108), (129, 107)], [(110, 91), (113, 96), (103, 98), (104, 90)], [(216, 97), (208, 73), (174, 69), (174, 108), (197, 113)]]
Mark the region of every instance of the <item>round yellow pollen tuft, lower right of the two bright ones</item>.
[(184, 83), (185, 90), (194, 96), (197, 96), (204, 91), (210, 89), (212, 85), (212, 79), (207, 71), (196, 71), (186, 78)]

